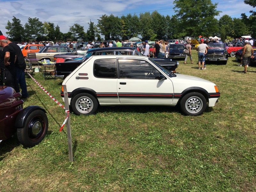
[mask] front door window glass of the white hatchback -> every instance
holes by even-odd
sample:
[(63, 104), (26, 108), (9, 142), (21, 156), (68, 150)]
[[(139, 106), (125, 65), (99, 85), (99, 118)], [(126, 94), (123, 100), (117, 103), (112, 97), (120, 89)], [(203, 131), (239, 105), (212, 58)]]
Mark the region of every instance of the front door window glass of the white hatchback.
[(144, 60), (119, 59), (118, 69), (120, 78), (155, 79), (160, 72)]

